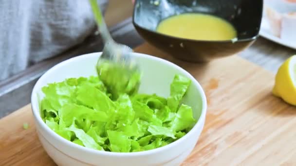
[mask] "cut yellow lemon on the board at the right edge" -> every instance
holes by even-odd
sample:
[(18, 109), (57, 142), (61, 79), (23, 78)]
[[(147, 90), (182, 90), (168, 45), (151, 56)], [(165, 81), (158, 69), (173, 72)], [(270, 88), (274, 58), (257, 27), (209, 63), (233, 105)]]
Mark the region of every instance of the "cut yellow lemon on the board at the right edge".
[(287, 103), (296, 105), (296, 55), (288, 58), (278, 68), (272, 93)]

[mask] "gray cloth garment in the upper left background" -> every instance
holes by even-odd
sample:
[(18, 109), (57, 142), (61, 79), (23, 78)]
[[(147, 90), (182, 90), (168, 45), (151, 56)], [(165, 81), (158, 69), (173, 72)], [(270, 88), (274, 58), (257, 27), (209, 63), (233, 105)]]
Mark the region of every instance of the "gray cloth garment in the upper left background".
[(0, 0), (0, 80), (79, 44), (94, 27), (88, 0)]

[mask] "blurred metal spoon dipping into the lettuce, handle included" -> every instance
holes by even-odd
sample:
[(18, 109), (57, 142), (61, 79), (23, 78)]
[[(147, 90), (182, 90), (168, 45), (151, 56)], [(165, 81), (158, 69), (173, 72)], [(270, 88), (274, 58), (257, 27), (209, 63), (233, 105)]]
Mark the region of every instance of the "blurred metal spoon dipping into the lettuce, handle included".
[(96, 69), (100, 80), (107, 85), (116, 100), (120, 94), (132, 95), (140, 84), (140, 73), (133, 52), (128, 46), (116, 43), (107, 28), (97, 0), (90, 0), (92, 12), (105, 43), (102, 55), (97, 61)]

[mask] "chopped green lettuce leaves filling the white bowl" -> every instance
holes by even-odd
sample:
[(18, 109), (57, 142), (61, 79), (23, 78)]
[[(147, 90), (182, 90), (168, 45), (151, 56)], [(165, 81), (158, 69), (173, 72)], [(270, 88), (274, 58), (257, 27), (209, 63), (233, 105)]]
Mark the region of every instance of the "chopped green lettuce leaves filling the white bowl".
[[(191, 107), (182, 103), (189, 79), (176, 75), (166, 99), (138, 94), (139, 76), (118, 79), (125, 73), (110, 75), (112, 67), (101, 66), (100, 77), (69, 78), (44, 86), (40, 114), (45, 124), (77, 145), (113, 152), (156, 149), (180, 139), (194, 126)], [(122, 84), (115, 86), (115, 82)]]

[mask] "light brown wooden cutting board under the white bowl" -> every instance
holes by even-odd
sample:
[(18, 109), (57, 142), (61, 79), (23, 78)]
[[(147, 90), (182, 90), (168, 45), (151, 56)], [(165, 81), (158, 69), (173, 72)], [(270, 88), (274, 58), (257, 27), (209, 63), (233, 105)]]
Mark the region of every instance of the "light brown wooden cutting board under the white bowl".
[[(148, 44), (135, 51), (185, 68), (205, 90), (203, 133), (183, 166), (296, 166), (296, 107), (271, 94), (272, 73), (238, 56), (191, 64)], [(39, 143), (30, 105), (0, 119), (0, 166), (12, 165), (55, 165)]]

